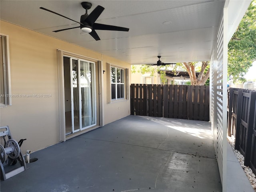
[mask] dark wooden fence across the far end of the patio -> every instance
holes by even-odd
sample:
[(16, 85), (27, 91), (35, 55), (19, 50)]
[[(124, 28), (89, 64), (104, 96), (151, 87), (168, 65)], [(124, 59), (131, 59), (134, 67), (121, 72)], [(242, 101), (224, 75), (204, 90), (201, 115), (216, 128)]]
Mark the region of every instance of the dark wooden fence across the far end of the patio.
[(209, 86), (131, 84), (131, 114), (209, 121)]

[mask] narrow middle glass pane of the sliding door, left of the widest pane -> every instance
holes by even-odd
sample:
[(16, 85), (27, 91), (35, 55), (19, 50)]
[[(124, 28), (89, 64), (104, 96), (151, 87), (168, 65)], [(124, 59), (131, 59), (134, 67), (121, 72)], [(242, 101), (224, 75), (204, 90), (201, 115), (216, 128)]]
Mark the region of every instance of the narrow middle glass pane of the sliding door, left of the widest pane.
[(72, 88), (73, 88), (73, 125), (74, 132), (80, 129), (79, 121), (79, 92), (78, 92), (78, 61), (72, 59)]

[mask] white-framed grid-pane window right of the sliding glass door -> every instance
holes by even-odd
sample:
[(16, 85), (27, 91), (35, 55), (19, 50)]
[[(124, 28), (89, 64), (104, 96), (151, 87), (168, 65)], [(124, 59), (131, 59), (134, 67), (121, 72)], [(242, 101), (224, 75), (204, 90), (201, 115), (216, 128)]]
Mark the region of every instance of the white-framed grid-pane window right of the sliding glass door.
[(124, 99), (124, 69), (111, 66), (111, 100)]

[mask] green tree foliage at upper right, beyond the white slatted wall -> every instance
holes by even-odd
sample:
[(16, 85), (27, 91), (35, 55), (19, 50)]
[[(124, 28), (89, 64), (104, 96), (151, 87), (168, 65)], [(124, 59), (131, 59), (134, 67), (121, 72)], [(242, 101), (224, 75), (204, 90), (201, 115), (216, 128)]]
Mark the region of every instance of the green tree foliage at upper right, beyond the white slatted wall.
[(228, 76), (234, 82), (245, 82), (244, 75), (256, 60), (256, 0), (252, 0), (246, 14), (228, 44)]

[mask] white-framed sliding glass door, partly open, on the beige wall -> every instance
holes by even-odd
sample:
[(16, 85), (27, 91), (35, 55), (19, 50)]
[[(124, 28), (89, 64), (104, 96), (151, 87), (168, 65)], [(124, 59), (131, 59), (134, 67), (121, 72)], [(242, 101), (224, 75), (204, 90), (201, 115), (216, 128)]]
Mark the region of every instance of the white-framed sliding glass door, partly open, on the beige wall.
[(95, 63), (64, 56), (66, 135), (96, 125)]

